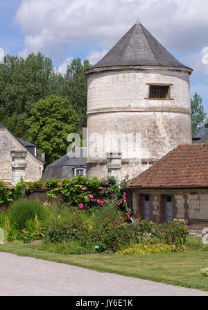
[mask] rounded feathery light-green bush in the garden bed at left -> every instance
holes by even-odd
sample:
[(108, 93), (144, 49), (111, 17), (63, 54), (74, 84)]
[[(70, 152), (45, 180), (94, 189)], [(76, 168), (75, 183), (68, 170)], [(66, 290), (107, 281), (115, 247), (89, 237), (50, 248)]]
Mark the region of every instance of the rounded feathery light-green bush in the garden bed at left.
[(12, 203), (8, 212), (8, 218), (17, 230), (23, 230), (26, 228), (28, 220), (35, 220), (35, 215), (38, 220), (44, 221), (49, 217), (49, 214), (50, 212), (38, 200), (28, 201), (24, 198)]

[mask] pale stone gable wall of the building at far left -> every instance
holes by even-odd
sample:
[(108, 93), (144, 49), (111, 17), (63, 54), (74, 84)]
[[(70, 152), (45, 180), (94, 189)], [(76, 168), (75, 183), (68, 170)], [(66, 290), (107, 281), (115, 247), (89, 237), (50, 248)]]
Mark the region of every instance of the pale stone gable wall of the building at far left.
[[(0, 129), (0, 179), (8, 182), (12, 182), (11, 150), (26, 150), (26, 148), (19, 144), (19, 142), (10, 135), (8, 130)], [(44, 164), (36, 160), (28, 151), (25, 162), (26, 168), (24, 175), (26, 182), (40, 179), (42, 177)], [(17, 182), (17, 180), (15, 180), (15, 182)]]

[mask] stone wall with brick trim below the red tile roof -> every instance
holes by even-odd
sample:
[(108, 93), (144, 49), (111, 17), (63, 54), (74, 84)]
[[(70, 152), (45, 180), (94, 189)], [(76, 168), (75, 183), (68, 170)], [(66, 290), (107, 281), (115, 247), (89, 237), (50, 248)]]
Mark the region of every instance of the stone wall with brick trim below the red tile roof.
[(151, 221), (165, 221), (165, 198), (173, 196), (173, 218), (193, 227), (208, 227), (208, 189), (130, 189), (133, 216), (143, 215), (143, 196), (150, 195)]

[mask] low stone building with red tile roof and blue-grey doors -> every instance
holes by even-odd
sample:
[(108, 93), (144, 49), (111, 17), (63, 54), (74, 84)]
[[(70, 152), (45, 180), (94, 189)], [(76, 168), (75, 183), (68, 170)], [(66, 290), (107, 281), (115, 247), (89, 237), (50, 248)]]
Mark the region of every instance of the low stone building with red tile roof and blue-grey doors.
[(208, 227), (208, 144), (182, 144), (128, 183), (135, 217)]

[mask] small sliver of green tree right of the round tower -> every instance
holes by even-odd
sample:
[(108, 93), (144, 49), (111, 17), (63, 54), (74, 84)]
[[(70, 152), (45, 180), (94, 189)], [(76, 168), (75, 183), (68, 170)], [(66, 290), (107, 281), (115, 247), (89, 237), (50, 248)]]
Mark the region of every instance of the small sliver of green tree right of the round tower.
[(207, 121), (207, 113), (202, 105), (202, 98), (197, 93), (191, 98), (191, 126), (192, 134), (198, 131)]

